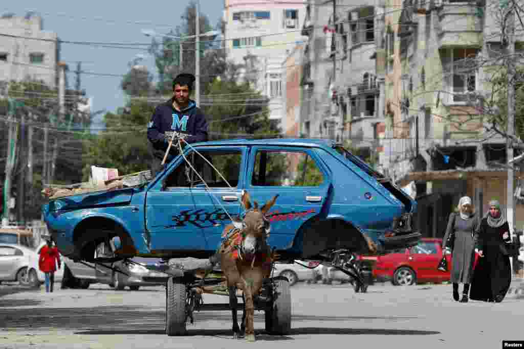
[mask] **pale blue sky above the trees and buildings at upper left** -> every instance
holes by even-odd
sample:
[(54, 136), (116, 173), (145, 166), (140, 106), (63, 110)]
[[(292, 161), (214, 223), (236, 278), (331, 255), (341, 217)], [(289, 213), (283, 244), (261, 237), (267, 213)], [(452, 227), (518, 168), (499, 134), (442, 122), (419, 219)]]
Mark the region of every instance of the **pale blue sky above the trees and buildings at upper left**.
[[(34, 11), (42, 17), (43, 30), (58, 34), (61, 40), (89, 42), (150, 43), (141, 30), (152, 29), (157, 33), (168, 33), (182, 24), (180, 16), (190, 0), (149, 0), (138, 2), (122, 0), (90, 0), (89, 2), (64, 0), (19, 0), (4, 2), (0, 14), (14, 13), (25, 16)], [(200, 12), (208, 16), (215, 26), (222, 18), (223, 0), (200, 0)], [(159, 39), (159, 38), (158, 38)], [(82, 62), (82, 71), (94, 73), (125, 74), (128, 63), (137, 54), (144, 59), (139, 64), (148, 67), (157, 81), (155, 62), (146, 50), (113, 49), (94, 46), (62, 44), (61, 60), (69, 65), (68, 83), (74, 88), (77, 62)], [(119, 87), (122, 77), (81, 75), (81, 88), (92, 98), (92, 112), (106, 110), (115, 112), (125, 104), (124, 93)], [(102, 127), (101, 115), (94, 119), (93, 128)]]

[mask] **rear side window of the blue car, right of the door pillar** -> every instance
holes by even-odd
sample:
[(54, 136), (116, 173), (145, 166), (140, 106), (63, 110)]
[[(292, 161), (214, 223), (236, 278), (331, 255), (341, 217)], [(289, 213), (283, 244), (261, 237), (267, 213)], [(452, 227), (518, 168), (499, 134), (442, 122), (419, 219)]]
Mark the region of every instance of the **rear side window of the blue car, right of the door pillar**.
[(306, 152), (259, 150), (251, 184), (253, 186), (319, 186), (324, 176), (315, 160)]

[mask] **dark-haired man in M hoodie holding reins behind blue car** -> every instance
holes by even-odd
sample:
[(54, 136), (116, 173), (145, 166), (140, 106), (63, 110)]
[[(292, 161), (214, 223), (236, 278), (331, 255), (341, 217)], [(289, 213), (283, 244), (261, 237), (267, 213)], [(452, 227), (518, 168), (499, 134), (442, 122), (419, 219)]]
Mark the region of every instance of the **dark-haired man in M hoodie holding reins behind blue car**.
[[(155, 108), (147, 127), (147, 139), (153, 147), (152, 170), (157, 172), (168, 149), (173, 132), (179, 132), (188, 143), (208, 140), (208, 121), (202, 110), (189, 96), (193, 91), (195, 76), (183, 73), (173, 80), (173, 97)], [(173, 142), (166, 163), (178, 155), (179, 148)], [(155, 175), (154, 173), (153, 175)]]

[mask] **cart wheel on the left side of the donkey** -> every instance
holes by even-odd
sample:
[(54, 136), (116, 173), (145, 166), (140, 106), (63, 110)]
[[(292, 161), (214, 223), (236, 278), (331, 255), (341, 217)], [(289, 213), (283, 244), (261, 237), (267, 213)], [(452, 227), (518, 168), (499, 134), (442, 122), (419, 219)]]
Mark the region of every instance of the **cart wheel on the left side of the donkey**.
[(181, 336), (185, 329), (185, 284), (179, 278), (170, 277), (166, 289), (166, 334)]

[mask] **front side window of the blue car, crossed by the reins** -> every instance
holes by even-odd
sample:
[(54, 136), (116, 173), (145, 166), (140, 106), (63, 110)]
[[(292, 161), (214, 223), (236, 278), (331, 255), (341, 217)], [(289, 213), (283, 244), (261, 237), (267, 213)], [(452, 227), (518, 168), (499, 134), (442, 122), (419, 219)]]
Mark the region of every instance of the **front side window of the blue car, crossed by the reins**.
[[(190, 152), (185, 155), (193, 168), (187, 162), (181, 162), (167, 176), (165, 187), (205, 187), (202, 179), (211, 188), (227, 188), (227, 184), (232, 187), (238, 186), (242, 163), (240, 150), (208, 150), (199, 151), (199, 153), (200, 155)], [(227, 183), (213, 167), (224, 176)], [(198, 175), (195, 171), (198, 172)]]

